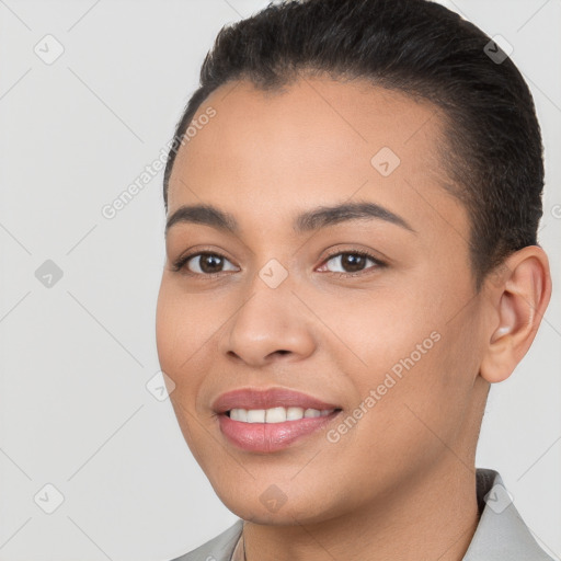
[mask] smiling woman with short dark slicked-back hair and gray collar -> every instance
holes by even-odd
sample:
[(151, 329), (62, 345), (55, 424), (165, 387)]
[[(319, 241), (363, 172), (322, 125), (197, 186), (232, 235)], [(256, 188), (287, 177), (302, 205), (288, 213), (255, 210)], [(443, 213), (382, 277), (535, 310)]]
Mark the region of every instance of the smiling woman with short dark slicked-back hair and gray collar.
[(474, 467), (551, 293), (506, 51), (425, 0), (293, 1), (224, 28), (201, 79), (157, 343), (239, 520), (179, 559), (550, 559)]

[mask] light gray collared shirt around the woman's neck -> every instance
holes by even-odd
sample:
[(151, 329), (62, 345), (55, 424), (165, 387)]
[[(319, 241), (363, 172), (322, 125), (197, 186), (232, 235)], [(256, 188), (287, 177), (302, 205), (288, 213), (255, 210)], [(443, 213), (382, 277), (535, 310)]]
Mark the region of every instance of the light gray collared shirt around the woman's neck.
[[(524, 524), (496, 471), (477, 470), (477, 495), (481, 517), (462, 561), (553, 561)], [(230, 561), (242, 526), (239, 518), (211, 540), (173, 561)]]

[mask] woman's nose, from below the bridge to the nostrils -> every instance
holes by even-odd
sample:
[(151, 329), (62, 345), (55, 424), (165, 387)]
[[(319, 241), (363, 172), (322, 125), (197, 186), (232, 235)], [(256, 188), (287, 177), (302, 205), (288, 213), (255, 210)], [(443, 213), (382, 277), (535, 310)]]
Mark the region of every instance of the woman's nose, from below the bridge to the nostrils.
[(256, 277), (250, 296), (222, 332), (220, 352), (254, 367), (278, 359), (302, 359), (316, 348), (313, 323), (313, 316), (293, 294), (289, 283), (271, 288)]

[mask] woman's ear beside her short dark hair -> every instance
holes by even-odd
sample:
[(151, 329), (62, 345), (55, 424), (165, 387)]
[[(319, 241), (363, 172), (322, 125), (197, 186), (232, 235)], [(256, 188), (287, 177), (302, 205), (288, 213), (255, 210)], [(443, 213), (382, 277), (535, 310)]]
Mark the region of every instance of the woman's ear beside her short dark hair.
[(508, 378), (522, 360), (548, 307), (551, 275), (546, 252), (528, 245), (513, 253), (489, 275), (484, 289), (493, 313), (480, 375), (497, 382)]

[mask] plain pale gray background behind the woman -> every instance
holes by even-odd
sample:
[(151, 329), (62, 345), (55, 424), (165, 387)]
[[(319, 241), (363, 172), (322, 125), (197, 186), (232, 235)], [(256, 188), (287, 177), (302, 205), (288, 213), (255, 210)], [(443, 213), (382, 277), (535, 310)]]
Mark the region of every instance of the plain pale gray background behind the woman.
[[(160, 156), (219, 28), (266, 3), (0, 0), (0, 560), (163, 561), (237, 518), (146, 387), (158, 387), (162, 172), (113, 219), (102, 208)], [(512, 44), (542, 127), (553, 298), (491, 390), (478, 466), (502, 473), (559, 559), (561, 2), (447, 5)]]

